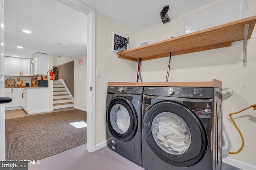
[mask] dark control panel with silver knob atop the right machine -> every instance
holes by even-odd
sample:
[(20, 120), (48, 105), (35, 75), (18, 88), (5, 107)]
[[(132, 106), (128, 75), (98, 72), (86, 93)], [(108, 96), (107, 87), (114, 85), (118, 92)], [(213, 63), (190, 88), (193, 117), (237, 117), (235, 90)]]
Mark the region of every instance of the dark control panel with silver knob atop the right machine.
[(180, 98), (213, 98), (214, 88), (202, 87), (144, 87), (144, 94)]

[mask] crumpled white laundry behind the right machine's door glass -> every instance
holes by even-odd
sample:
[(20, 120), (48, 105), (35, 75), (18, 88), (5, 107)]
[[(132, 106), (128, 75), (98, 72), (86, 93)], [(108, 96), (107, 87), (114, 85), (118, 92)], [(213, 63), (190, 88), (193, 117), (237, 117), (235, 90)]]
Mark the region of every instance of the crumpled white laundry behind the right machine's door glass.
[[(158, 145), (172, 154), (185, 152), (190, 146), (190, 132), (184, 120), (174, 113), (164, 112), (152, 121), (152, 135)], [(161, 147), (161, 146), (160, 146)]]

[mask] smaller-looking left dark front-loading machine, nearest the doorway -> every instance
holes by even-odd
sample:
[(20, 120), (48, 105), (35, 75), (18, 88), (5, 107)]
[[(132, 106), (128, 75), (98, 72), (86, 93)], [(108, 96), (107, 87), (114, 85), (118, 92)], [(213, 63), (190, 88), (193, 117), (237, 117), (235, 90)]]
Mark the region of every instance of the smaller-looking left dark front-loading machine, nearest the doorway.
[(106, 137), (110, 149), (142, 165), (143, 87), (108, 86)]

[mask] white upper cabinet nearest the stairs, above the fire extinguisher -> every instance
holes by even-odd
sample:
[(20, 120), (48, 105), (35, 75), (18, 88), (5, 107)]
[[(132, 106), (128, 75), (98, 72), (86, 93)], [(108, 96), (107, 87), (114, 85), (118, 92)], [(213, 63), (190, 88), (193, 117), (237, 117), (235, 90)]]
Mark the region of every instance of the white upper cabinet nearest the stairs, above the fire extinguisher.
[(31, 58), (31, 74), (46, 75), (48, 72), (48, 54), (36, 53)]

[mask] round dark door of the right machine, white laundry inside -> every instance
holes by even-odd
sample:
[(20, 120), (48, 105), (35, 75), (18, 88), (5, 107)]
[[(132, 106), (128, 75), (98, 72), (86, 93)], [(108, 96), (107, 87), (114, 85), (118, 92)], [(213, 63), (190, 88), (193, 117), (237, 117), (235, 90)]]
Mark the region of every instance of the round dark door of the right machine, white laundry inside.
[(203, 124), (180, 103), (163, 101), (150, 107), (144, 115), (143, 131), (150, 149), (168, 164), (189, 167), (206, 153)]

